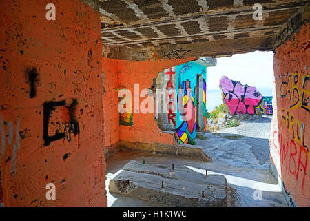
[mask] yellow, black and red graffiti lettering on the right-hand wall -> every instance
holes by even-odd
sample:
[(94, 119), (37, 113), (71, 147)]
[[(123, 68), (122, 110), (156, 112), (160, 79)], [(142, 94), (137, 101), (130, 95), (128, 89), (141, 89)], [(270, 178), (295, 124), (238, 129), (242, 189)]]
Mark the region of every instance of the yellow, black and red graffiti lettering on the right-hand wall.
[[(280, 156), (282, 177), (294, 177), (296, 185), (304, 190), (309, 168), (309, 136), (307, 125), (309, 119), (309, 75), (300, 77), (298, 73), (288, 75), (280, 85), (278, 106), (282, 106), (280, 130), (273, 131), (271, 146)], [(274, 158), (274, 156), (273, 156)]]

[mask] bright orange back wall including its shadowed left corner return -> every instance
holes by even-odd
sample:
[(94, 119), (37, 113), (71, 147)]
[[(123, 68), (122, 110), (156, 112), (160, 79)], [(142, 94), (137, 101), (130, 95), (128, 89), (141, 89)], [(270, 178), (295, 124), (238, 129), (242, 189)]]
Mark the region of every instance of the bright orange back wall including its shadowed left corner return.
[[(172, 135), (163, 133), (155, 121), (155, 113), (134, 113), (134, 126), (118, 126), (114, 121), (118, 119), (118, 92), (115, 88), (129, 89), (132, 93), (132, 107), (134, 107), (134, 84), (139, 84), (139, 90), (151, 88), (153, 79), (158, 73), (166, 68), (183, 64), (191, 59), (174, 59), (167, 61), (121, 61), (107, 59), (103, 57), (103, 75), (105, 77), (104, 119), (105, 119), (105, 139), (109, 139), (107, 133), (110, 132), (111, 142), (105, 142), (105, 146), (110, 146), (113, 142), (126, 140), (143, 143), (163, 143), (174, 144)], [(145, 98), (140, 98), (142, 102)], [(110, 101), (110, 102), (107, 102)], [(133, 110), (132, 110), (133, 111)], [(112, 117), (111, 117), (112, 115)], [(110, 116), (110, 117), (109, 117)], [(107, 122), (107, 119), (110, 119)], [(110, 125), (108, 125), (110, 124)], [(119, 127), (119, 131), (117, 128)], [(112, 139), (112, 137), (116, 137)], [(119, 137), (119, 138), (118, 138)]]

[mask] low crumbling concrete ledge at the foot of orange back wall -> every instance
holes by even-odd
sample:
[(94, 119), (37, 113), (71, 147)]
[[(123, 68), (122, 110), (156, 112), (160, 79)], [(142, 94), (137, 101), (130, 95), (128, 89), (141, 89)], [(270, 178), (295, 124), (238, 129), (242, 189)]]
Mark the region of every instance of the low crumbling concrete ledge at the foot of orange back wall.
[(212, 158), (205, 154), (202, 147), (192, 147), (188, 144), (148, 144), (143, 142), (129, 142), (121, 140), (119, 142), (119, 146), (120, 148), (124, 148), (128, 151), (139, 151), (153, 155), (169, 155), (189, 160), (200, 160), (204, 162), (212, 161)]

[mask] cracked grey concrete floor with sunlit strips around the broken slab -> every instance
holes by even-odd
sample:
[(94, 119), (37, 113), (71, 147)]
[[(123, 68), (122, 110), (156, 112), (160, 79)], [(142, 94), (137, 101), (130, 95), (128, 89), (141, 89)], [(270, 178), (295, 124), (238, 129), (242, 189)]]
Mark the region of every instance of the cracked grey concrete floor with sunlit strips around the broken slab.
[(130, 160), (145, 164), (162, 164), (176, 167), (186, 166), (193, 173), (225, 175), (227, 184), (236, 189), (234, 206), (287, 206), (280, 192), (278, 180), (269, 168), (269, 136), (271, 117), (263, 116), (255, 121), (242, 121), (240, 126), (225, 128), (218, 133), (205, 133), (205, 140), (196, 139), (212, 162), (185, 160), (162, 155), (119, 151), (107, 159), (108, 206), (156, 206), (143, 200), (109, 193), (110, 177)]

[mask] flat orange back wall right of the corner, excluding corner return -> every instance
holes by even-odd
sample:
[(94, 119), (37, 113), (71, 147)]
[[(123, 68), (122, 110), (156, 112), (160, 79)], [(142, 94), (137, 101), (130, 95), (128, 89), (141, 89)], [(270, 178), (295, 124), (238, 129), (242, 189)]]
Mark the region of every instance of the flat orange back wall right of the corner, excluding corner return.
[[(174, 59), (169, 61), (119, 61), (119, 86), (132, 92), (132, 108), (134, 108), (134, 84), (139, 90), (151, 88), (153, 79), (166, 68), (183, 64), (192, 59)], [(140, 98), (140, 102), (145, 98)], [(131, 142), (174, 144), (172, 135), (161, 132), (155, 121), (155, 113), (134, 113), (134, 126), (120, 126), (120, 139)]]

